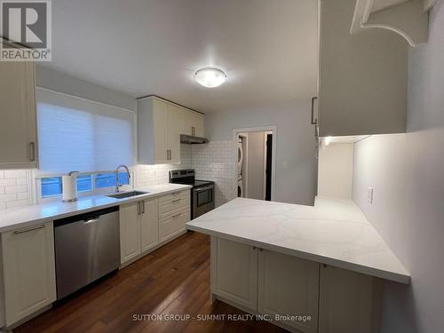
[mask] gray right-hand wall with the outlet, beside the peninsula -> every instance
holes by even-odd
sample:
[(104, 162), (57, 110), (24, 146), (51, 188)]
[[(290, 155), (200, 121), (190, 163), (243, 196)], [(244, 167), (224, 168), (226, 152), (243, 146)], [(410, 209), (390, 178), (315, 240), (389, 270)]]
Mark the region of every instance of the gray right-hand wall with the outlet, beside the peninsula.
[[(408, 133), (372, 136), (354, 148), (353, 199), (412, 276), (385, 284), (383, 333), (444, 327), (444, 5), (427, 44), (409, 54)], [(374, 188), (367, 202), (366, 186)]]

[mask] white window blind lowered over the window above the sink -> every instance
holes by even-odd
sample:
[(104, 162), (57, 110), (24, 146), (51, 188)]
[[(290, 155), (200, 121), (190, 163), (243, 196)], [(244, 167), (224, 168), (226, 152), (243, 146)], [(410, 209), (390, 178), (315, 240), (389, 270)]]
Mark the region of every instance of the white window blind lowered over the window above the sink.
[(135, 164), (136, 114), (92, 100), (36, 89), (40, 170), (114, 170)]

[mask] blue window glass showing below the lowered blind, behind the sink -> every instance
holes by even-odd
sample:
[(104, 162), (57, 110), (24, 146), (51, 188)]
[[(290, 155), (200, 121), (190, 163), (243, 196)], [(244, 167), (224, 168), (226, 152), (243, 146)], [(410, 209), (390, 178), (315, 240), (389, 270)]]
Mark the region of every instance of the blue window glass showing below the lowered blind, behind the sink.
[[(61, 177), (42, 178), (42, 198), (59, 196), (63, 192)], [(131, 185), (126, 172), (119, 172), (119, 184)], [(77, 193), (93, 193), (96, 189), (109, 189), (115, 186), (115, 172), (82, 175), (77, 177)]]

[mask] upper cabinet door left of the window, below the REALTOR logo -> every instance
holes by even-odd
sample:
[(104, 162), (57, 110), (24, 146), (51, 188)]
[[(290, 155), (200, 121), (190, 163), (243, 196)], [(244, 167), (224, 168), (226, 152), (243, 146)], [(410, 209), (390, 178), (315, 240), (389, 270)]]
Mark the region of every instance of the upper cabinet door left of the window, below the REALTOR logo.
[(34, 64), (0, 62), (0, 169), (36, 168)]

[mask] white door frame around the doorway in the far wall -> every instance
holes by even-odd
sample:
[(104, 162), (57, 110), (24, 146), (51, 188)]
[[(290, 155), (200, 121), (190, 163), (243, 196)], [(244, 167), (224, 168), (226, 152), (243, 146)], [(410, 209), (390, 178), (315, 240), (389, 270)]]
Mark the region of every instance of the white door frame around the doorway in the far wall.
[[(275, 190), (276, 190), (276, 143), (277, 143), (277, 126), (262, 126), (262, 127), (248, 127), (248, 128), (242, 128), (242, 129), (234, 129), (233, 130), (233, 156), (234, 156), (234, 168), (232, 170), (233, 174), (233, 181), (234, 181), (234, 187), (233, 187), (233, 194), (234, 198), (237, 198), (237, 138), (239, 134), (242, 133), (250, 133), (250, 132), (256, 132), (256, 131), (264, 131), (264, 132), (271, 132), (273, 134), (273, 147), (272, 147), (272, 197), (271, 201), (274, 202), (275, 200)], [(245, 157), (245, 155), (244, 155)]]

